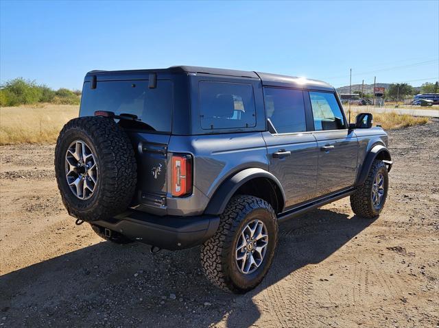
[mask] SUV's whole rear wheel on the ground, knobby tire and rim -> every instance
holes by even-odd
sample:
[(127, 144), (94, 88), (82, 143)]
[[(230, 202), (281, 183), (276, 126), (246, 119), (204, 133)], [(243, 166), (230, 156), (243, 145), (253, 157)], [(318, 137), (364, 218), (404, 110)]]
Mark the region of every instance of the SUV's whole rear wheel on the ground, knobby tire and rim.
[(204, 274), (223, 290), (248, 292), (267, 274), (277, 238), (277, 218), (269, 203), (252, 196), (233, 197), (215, 235), (202, 245)]

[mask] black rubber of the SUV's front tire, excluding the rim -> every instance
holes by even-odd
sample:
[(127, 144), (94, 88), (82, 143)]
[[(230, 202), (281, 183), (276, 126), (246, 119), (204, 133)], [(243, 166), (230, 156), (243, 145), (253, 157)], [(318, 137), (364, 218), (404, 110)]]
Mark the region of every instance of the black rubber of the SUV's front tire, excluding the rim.
[[(378, 207), (372, 203), (372, 186), (377, 174), (381, 173), (384, 177), (383, 199)], [(387, 166), (380, 160), (375, 160), (366, 177), (364, 184), (359, 186), (355, 193), (351, 194), (351, 207), (357, 216), (363, 218), (376, 218), (383, 210), (385, 199), (387, 198), (389, 186), (389, 176)]]

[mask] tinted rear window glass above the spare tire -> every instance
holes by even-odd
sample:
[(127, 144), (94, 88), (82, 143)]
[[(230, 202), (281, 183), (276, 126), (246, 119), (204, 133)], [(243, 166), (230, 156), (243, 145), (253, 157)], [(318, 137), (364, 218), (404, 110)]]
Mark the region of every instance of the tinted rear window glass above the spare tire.
[(95, 89), (85, 82), (80, 116), (93, 116), (97, 110), (134, 114), (154, 131), (171, 132), (172, 99), (168, 80), (158, 80), (156, 88), (148, 88), (147, 80), (98, 81)]

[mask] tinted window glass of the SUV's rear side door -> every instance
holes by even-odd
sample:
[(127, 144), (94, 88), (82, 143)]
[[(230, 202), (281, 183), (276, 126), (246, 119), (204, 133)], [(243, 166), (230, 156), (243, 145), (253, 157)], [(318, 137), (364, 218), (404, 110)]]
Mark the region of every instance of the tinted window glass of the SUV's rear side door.
[(301, 90), (264, 88), (264, 100), (267, 118), (278, 134), (307, 130)]

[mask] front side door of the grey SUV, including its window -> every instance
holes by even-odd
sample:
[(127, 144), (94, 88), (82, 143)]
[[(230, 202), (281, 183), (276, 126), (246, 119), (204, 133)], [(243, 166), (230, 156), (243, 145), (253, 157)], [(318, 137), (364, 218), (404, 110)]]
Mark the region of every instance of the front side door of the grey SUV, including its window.
[(353, 186), (357, 176), (358, 139), (348, 130), (334, 92), (306, 92), (311, 103), (318, 146), (318, 196)]

